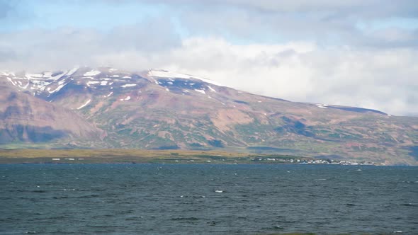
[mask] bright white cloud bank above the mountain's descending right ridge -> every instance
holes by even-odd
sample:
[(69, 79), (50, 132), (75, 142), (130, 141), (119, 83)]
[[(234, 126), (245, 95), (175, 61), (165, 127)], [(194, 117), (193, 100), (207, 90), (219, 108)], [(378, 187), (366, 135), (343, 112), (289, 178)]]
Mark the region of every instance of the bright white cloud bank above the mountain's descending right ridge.
[(321, 47), (309, 42), (242, 46), (222, 39), (192, 39), (172, 53), (165, 68), (291, 101), (402, 115), (418, 110), (417, 62), (417, 50)]

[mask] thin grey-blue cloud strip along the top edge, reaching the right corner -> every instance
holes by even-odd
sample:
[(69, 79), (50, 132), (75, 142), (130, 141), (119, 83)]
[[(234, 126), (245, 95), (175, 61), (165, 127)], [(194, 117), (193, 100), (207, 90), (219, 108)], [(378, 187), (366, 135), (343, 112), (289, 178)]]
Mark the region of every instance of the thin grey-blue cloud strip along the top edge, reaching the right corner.
[[(119, 1), (120, 2), (120, 1)], [(132, 1), (121, 1), (131, 3)], [(327, 13), (334, 18), (383, 18), (417, 17), (418, 6), (414, 0), (142, 0), (145, 3), (159, 3), (181, 8), (241, 8), (261, 13)], [(332, 17), (330, 17), (332, 18)]]

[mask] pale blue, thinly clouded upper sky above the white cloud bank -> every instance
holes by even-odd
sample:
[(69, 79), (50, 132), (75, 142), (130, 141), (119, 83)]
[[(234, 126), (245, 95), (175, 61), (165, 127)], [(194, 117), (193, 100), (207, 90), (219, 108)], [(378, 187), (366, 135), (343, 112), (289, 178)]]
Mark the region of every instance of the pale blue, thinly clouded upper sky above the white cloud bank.
[[(5, 6), (11, 6), (10, 1), (3, 2)], [(30, 15), (32, 1), (16, 2), (21, 4), (14, 4), (13, 8), (18, 9), (21, 16), (24, 15), (22, 12)], [(39, 7), (42, 4), (47, 7)], [(26, 5), (29, 7), (24, 8)], [(140, 16), (149, 13), (153, 21), (155, 18), (174, 21), (172, 25), (183, 38), (214, 36), (239, 43), (312, 40), (320, 45), (358, 47), (418, 45), (418, 4), (414, 0), (73, 0), (40, 1), (36, 6), (32, 9), (36, 12), (32, 14), (37, 17), (32, 23), (16, 21), (13, 13), (8, 14), (9, 20), (5, 21), (4, 28), (13, 30), (11, 24), (16, 25), (14, 28), (30, 28), (32, 25), (44, 29), (71, 25), (112, 30), (115, 25), (124, 28), (142, 23)], [(66, 9), (64, 16), (74, 16), (72, 20), (65, 20), (57, 13), (63, 8)], [(126, 12), (128, 9), (137, 11)], [(381, 28), (388, 22), (392, 23), (390, 27)], [(405, 24), (409, 25), (408, 29), (402, 28)], [(375, 25), (380, 25), (380, 28), (376, 29)], [(148, 33), (153, 31), (149, 28)], [(162, 32), (158, 28), (157, 31)], [(164, 33), (160, 37), (164, 38)]]

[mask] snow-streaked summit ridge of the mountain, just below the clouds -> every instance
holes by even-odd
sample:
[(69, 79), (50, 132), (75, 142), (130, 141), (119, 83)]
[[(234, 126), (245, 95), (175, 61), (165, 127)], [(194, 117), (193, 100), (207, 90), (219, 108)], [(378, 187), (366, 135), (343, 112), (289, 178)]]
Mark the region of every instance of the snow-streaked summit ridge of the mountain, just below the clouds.
[[(142, 76), (128, 74), (117, 69), (87, 69), (74, 68), (69, 71), (43, 72), (40, 74), (14, 74), (13, 72), (0, 72), (13, 86), (21, 91), (28, 91), (33, 96), (52, 98), (67, 85), (81, 85), (93, 89), (113, 89), (140, 86), (143, 79), (147, 78), (167, 91), (176, 93), (198, 92), (205, 94), (206, 91), (216, 92), (210, 85), (221, 86), (215, 81), (198, 78), (186, 74), (173, 73), (164, 70), (149, 70)], [(144, 76), (145, 75), (145, 76)], [(74, 81), (74, 78), (77, 81)]]

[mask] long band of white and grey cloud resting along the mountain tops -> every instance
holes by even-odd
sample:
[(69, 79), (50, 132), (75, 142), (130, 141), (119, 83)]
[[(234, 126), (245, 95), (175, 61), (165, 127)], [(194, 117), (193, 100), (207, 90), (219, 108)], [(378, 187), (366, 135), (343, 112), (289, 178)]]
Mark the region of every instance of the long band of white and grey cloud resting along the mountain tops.
[(235, 45), (222, 38), (179, 40), (163, 29), (166, 40), (159, 33), (132, 32), (137, 28), (114, 30), (115, 37), (68, 29), (3, 34), (0, 67), (169, 69), (290, 101), (354, 105), (395, 115), (418, 112), (414, 48), (324, 47), (310, 41)]

